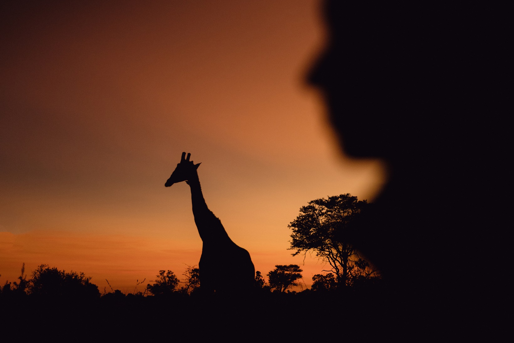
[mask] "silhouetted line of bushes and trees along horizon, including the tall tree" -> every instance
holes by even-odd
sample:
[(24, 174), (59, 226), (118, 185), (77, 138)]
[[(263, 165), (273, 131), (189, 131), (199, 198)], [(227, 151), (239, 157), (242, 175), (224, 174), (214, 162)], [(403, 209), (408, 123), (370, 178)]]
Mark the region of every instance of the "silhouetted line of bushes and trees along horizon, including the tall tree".
[[(312, 287), (293, 291), (293, 287), (301, 286), (302, 269), (299, 265), (276, 265), (266, 276), (260, 271), (255, 273), (254, 288), (246, 290), (253, 294), (267, 293), (313, 293), (341, 292), (344, 289), (377, 288), (382, 284), (380, 272), (373, 267), (358, 250), (351, 244), (352, 232), (363, 230), (370, 204), (365, 200), (358, 200), (351, 194), (340, 194), (328, 199), (309, 201), (300, 208), (298, 217), (290, 222), (291, 241), (289, 250), (293, 256), (314, 252), (316, 256), (330, 266), (324, 274), (313, 276)], [(230, 266), (227, 265), (227, 272)], [(182, 273), (185, 281), (180, 281), (171, 270), (160, 270), (152, 283), (136, 281), (133, 296), (139, 297), (177, 297), (201, 294), (200, 271), (196, 266), (187, 266)], [(5, 298), (9, 295), (30, 295), (50, 298), (100, 298), (123, 297), (119, 289), (104, 289), (100, 293), (98, 286), (91, 283), (91, 278), (80, 272), (66, 272), (46, 264), (38, 266), (32, 277), (27, 280), (25, 265), (17, 281), (6, 282), (1, 294)], [(305, 283), (303, 283), (305, 284)], [(240, 285), (234, 284), (234, 290)], [(138, 290), (138, 287), (143, 288)]]

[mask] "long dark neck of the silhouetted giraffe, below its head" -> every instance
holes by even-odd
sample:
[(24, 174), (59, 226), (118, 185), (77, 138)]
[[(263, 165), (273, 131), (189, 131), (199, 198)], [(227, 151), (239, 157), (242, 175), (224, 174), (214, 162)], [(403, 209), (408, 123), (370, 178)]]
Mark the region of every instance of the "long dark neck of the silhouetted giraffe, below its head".
[(230, 241), (221, 221), (207, 207), (204, 194), (201, 192), (198, 173), (189, 178), (188, 183), (191, 188), (194, 221), (204, 245), (206, 243), (220, 245)]

